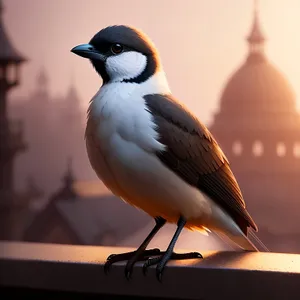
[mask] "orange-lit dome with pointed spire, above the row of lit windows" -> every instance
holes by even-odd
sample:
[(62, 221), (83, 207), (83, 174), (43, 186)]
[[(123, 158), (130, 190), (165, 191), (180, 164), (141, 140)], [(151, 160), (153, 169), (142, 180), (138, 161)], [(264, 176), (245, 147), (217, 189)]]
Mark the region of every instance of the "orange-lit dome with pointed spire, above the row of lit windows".
[(266, 132), (300, 128), (294, 90), (265, 55), (257, 9), (247, 41), (248, 56), (225, 84), (211, 129)]

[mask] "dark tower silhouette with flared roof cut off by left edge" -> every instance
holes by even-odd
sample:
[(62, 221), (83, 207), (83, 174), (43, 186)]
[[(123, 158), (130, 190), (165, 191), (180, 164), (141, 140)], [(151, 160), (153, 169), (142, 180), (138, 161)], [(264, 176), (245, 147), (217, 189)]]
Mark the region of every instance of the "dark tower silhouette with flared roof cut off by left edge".
[(14, 189), (14, 160), (26, 149), (20, 121), (8, 119), (7, 94), (20, 84), (19, 67), (25, 58), (13, 47), (3, 24), (0, 0), (0, 238), (13, 237), (18, 197)]

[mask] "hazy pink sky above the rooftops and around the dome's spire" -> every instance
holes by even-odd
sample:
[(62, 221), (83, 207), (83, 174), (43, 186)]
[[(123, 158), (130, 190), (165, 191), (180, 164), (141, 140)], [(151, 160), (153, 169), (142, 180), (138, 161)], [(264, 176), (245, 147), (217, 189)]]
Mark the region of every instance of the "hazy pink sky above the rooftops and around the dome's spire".
[[(101, 28), (130, 24), (158, 47), (173, 94), (204, 122), (216, 110), (228, 76), (244, 60), (252, 0), (3, 0), (4, 20), (16, 48), (30, 58), (22, 86), (34, 88), (45, 66), (54, 95), (63, 95), (72, 73), (83, 107), (100, 86), (87, 60), (70, 49)], [(300, 1), (261, 0), (268, 57), (286, 74), (300, 104)]]

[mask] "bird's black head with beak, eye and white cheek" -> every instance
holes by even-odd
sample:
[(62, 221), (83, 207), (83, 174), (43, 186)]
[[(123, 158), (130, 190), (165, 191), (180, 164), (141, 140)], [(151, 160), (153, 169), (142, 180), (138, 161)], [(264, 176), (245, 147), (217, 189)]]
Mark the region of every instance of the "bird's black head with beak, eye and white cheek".
[(107, 82), (146, 81), (159, 69), (159, 58), (153, 43), (141, 31), (119, 25), (99, 31), (88, 44), (74, 47), (75, 54), (91, 60)]

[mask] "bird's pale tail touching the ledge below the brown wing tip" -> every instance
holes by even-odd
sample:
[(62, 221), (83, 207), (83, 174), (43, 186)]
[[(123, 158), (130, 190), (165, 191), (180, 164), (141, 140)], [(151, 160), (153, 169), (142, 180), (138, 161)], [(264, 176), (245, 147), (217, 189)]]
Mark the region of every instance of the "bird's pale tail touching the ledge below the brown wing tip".
[(221, 238), (223, 242), (225, 242), (229, 247), (233, 249), (238, 247), (246, 251), (270, 252), (266, 245), (251, 229), (248, 231), (248, 236), (243, 233), (239, 235), (226, 234), (226, 236), (217, 232), (215, 232), (215, 234), (218, 235), (218, 237)]

